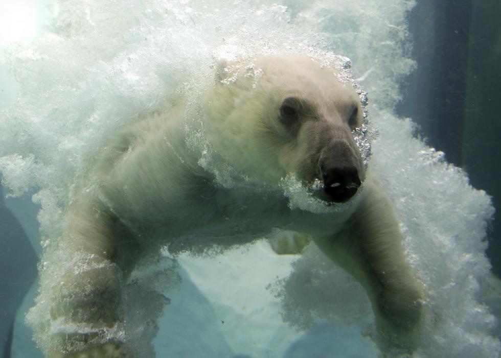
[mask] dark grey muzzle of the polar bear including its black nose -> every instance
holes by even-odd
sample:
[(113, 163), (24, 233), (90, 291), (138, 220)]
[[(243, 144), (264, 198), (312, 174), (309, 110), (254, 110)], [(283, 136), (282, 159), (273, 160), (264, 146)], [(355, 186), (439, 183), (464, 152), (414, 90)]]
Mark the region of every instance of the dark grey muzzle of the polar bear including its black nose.
[(321, 199), (343, 203), (356, 194), (361, 185), (359, 159), (345, 141), (326, 148), (318, 166), (324, 184)]

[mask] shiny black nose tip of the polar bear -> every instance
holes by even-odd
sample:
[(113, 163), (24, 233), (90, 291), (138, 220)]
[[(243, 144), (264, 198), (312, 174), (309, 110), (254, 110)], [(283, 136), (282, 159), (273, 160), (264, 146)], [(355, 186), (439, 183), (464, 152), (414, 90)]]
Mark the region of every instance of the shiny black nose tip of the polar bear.
[(358, 170), (355, 166), (333, 166), (323, 168), (322, 180), (327, 200), (342, 203), (353, 197), (360, 186)]

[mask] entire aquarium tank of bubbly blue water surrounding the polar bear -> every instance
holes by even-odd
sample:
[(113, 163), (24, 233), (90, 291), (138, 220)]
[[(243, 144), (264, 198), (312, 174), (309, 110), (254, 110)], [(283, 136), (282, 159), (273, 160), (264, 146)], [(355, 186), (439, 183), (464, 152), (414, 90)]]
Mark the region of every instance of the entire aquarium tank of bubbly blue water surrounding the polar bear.
[[(500, 16), (497, 0), (3, 0), (0, 358), (42, 358), (77, 334), (83, 346), (113, 342), (95, 355), (103, 357), (119, 356), (117, 342), (134, 358), (500, 356)], [(312, 215), (356, 205), (357, 196), (319, 207), (315, 187), (290, 175), (264, 185), (208, 145), (210, 84), (260, 88), (255, 59), (284, 54), (335, 68), (358, 96), (353, 138), (394, 207), (399, 250), (423, 289), (419, 326), (385, 336), (363, 286), (316, 241), (278, 227), (233, 235), (214, 226), (163, 246), (121, 276), (122, 319), (104, 333), (58, 318), (51, 300), (64, 292), (64, 270), (88, 270), (60, 250), (81, 180), (109, 138), (151, 113), (186, 106), (193, 165), (236, 201), (255, 190)], [(178, 148), (181, 163), (191, 160)], [(102, 219), (95, 212), (91, 221)], [(233, 243), (206, 245), (209, 236)], [(60, 309), (73, 317), (79, 308)]]

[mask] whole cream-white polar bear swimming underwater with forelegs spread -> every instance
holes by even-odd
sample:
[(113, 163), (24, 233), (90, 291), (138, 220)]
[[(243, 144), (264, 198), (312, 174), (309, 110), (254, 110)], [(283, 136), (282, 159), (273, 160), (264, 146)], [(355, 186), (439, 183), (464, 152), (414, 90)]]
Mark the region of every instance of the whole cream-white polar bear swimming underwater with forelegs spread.
[[(142, 257), (197, 234), (216, 242), (274, 228), (308, 235), (363, 285), (379, 329), (391, 335), (419, 325), (423, 289), (406, 261), (392, 205), (353, 139), (362, 124), (358, 94), (334, 68), (306, 55), (253, 62), (248, 76), (248, 67), (221, 61), (203, 103), (212, 151), (253, 185), (221, 185), (200, 164), (187, 141), (183, 101), (123, 129), (103, 148), (67, 210), (59, 247), (87, 266), (69, 267), (57, 287), (44, 287), (43, 277), (41, 283), (53, 291), (53, 321), (93, 330), (54, 333), (48, 356), (138, 355), (125, 338), (102, 333), (122, 319), (121, 282)], [(291, 207), (281, 186), (288, 175), (326, 208), (351, 205), (320, 213)], [(37, 332), (44, 334), (53, 333)]]

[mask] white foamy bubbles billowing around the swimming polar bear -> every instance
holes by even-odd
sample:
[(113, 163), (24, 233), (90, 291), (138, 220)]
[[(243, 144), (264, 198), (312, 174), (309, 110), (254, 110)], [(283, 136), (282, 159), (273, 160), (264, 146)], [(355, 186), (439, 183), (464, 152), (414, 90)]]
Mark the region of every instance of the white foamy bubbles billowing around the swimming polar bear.
[[(396, 205), (408, 259), (427, 290), (429, 316), (417, 333), (420, 345), (415, 355), (498, 356), (499, 341), (490, 333), (495, 320), (479, 303), (479, 280), (490, 269), (484, 255), (493, 213), (490, 198), (473, 189), (462, 170), (416, 139), (411, 120), (393, 114), (401, 97), (399, 84), (415, 66), (408, 56), (406, 30), (406, 14), (413, 4), (407, 0), (57, 3), (50, 32), (30, 45), (11, 47), (0, 59), (10, 65), (19, 83), (15, 103), (1, 113), (0, 170), (10, 195), (31, 194), (41, 205), (44, 285), (57, 285), (58, 273), (73, 262), (60, 256), (63, 213), (74, 196), (76, 178), (92, 166), (105, 138), (179, 97), (186, 98), (191, 113), (199, 113), (204, 88), (213, 82), (220, 57), (303, 52), (322, 57), (332, 51), (351, 59), (354, 77), (369, 93), (368, 108), (380, 135), (372, 149), (372, 139), (364, 141), (360, 135), (359, 147), (368, 157), (373, 152), (371, 170)], [(367, 99), (365, 93), (359, 94)], [(195, 128), (192, 138), (203, 148), (203, 131)], [(206, 159), (201, 156), (201, 164), (210, 168), (210, 158)], [(225, 170), (221, 181), (235, 177), (231, 168)], [(286, 188), (295, 190), (285, 181)], [(294, 198), (298, 206), (310, 205), (301, 196)], [(75, 259), (82, 264), (87, 258)], [(255, 259), (249, 256), (249, 265)], [(127, 336), (145, 357), (153, 354), (148, 343), (156, 333), (153, 322), (168, 303), (163, 295), (168, 296), (179, 282), (175, 260), (158, 265), (156, 270), (139, 270), (122, 283), (128, 323), (108, 332), (110, 337)], [(235, 277), (228, 279), (238, 282)], [(210, 285), (214, 277), (203, 280)], [(156, 287), (158, 282), (167, 288)], [(270, 300), (273, 294), (281, 300), (282, 317), (291, 326), (308, 329), (329, 321), (355, 326), (378, 339), (367, 318), (371, 310), (365, 293), (314, 247), (292, 264), (288, 276), (269, 283)], [(154, 299), (145, 305), (144, 295), (149, 293), (148, 301)], [(220, 293), (219, 299), (224, 295)], [(28, 320), (40, 331), (64, 333), (70, 327), (51, 321), (44, 303), (49, 297), (40, 291)], [(213, 298), (218, 299), (217, 293)], [(138, 304), (142, 310), (129, 308)], [(43, 335), (37, 341), (45, 349), (54, 344)]]

